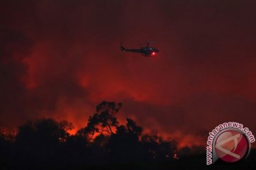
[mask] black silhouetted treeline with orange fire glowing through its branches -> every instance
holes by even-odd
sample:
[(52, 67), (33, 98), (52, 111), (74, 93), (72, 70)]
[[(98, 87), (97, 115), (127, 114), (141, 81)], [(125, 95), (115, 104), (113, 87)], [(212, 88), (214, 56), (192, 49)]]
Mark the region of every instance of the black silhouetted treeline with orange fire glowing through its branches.
[[(121, 103), (100, 103), (85, 128), (70, 135), (73, 125), (53, 119), (30, 121), (14, 137), (0, 135), (0, 169), (104, 169), (124, 164), (175, 162), (203, 147), (178, 149), (175, 140), (143, 134), (134, 120), (119, 125)], [(121, 167), (124, 169), (125, 167)]]

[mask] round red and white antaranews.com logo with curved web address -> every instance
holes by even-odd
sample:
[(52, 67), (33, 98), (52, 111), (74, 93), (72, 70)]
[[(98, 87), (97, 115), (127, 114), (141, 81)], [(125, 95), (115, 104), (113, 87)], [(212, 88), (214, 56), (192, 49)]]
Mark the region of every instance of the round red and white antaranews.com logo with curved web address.
[(251, 142), (255, 142), (255, 137), (248, 128), (243, 128), (242, 124), (220, 124), (209, 132), (206, 164), (213, 164), (218, 159), (228, 163), (239, 162), (250, 153)]

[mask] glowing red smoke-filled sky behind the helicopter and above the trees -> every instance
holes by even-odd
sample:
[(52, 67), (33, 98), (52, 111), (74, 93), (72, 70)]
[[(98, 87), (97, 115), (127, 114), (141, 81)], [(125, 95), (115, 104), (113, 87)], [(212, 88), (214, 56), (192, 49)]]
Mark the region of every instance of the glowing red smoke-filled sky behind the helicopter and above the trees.
[[(256, 134), (255, 1), (0, 2), (0, 126), (119, 119), (193, 142), (227, 121)], [(158, 57), (125, 53), (151, 42)], [(195, 141), (194, 141), (195, 142)], [(198, 141), (196, 141), (198, 142)], [(195, 142), (195, 143), (196, 143)]]

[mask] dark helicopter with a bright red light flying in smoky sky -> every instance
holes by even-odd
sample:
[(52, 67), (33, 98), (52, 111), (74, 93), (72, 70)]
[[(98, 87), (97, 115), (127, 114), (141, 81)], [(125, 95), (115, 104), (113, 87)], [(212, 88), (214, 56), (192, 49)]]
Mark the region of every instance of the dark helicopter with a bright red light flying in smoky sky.
[(126, 49), (120, 45), (120, 50), (124, 52), (139, 52), (142, 53), (146, 57), (154, 57), (159, 50), (156, 47), (149, 47), (149, 42), (146, 42), (146, 47), (141, 47), (140, 49)]

